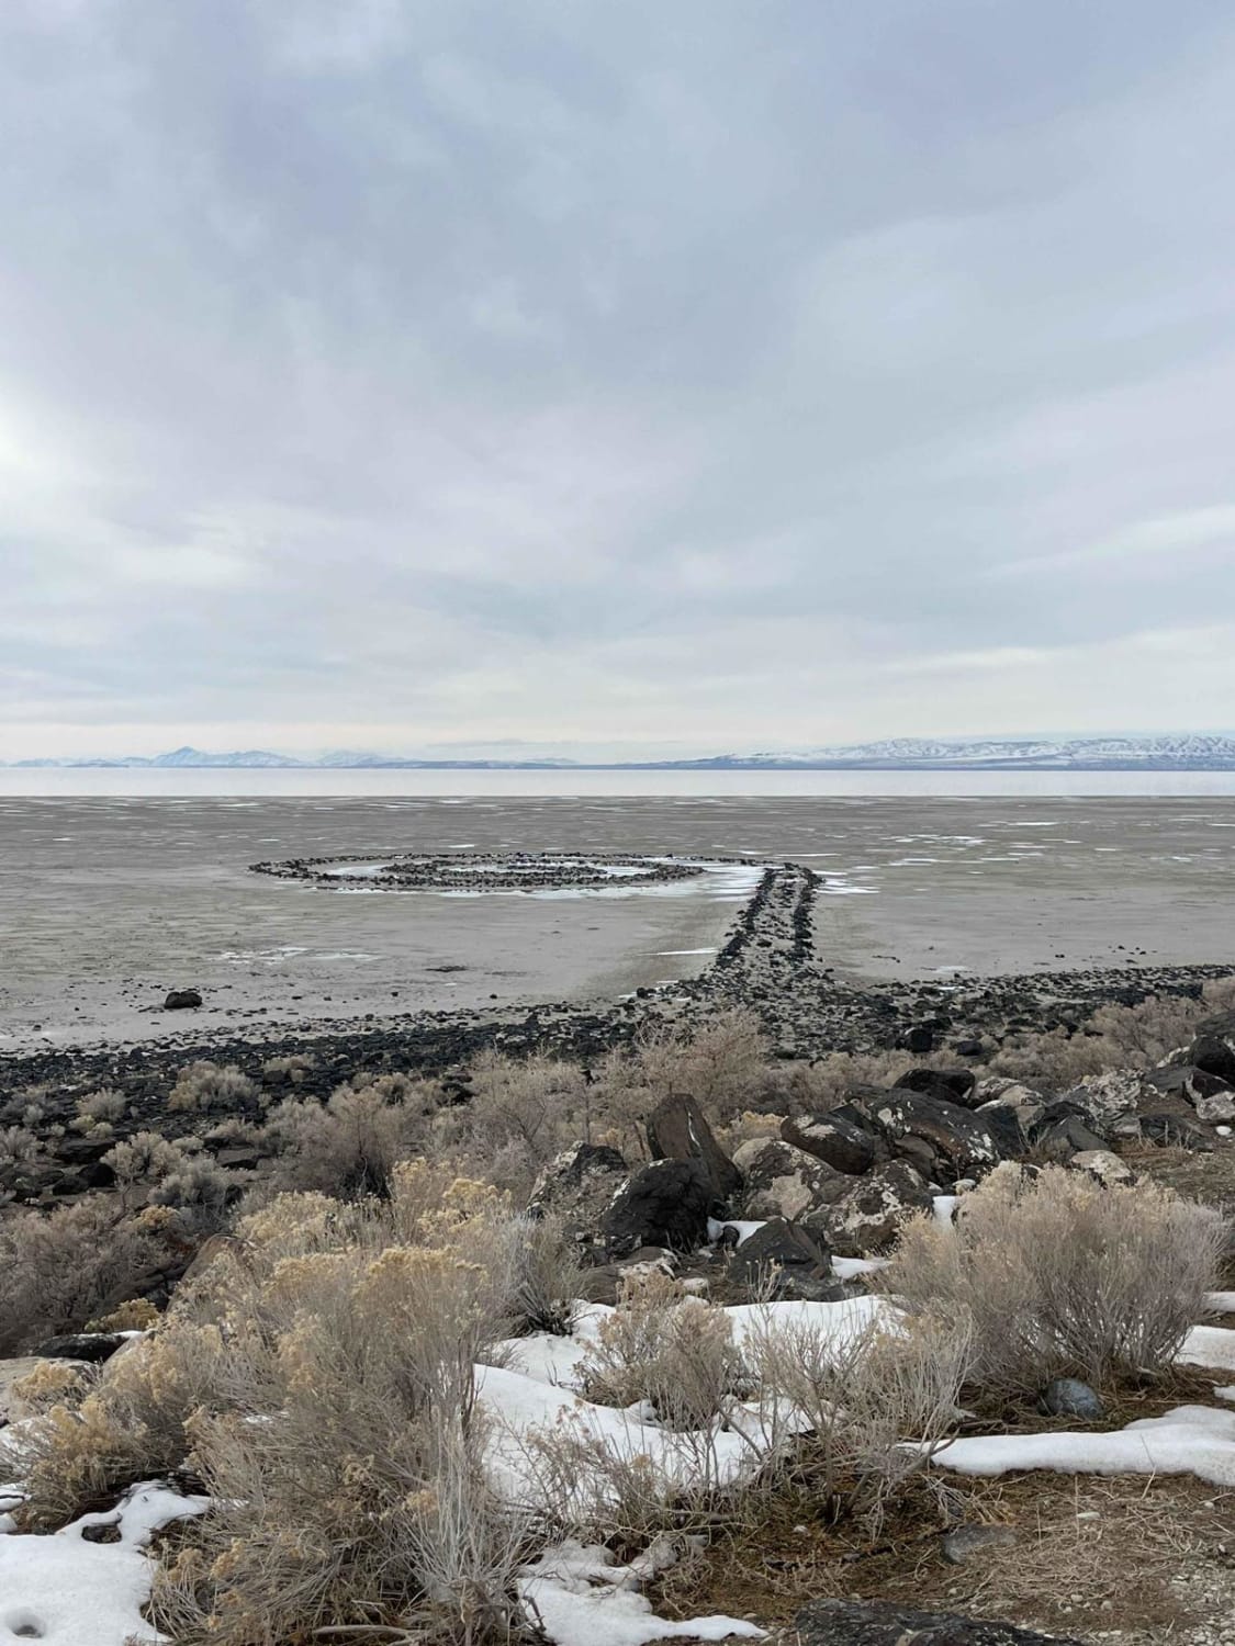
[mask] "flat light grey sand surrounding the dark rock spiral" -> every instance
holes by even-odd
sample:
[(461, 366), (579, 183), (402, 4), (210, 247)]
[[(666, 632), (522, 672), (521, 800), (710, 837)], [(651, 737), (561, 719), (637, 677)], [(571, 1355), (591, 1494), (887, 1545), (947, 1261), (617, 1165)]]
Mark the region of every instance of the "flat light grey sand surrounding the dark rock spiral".
[(156, 1009), (181, 986), (194, 1030), (613, 997), (700, 969), (741, 909), (729, 874), (454, 899), (247, 872), (395, 848), (792, 858), (851, 974), (1235, 960), (1223, 798), (7, 798), (0, 1049), (188, 1027)]

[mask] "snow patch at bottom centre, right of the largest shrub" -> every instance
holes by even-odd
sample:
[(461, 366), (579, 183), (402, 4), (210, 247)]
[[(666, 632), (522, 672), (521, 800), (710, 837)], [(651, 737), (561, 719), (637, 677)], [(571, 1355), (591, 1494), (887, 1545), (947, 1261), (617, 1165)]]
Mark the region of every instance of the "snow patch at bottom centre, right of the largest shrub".
[(566, 1541), (547, 1549), (535, 1565), (524, 1567), (519, 1597), (540, 1618), (555, 1646), (644, 1646), (669, 1634), (703, 1641), (729, 1634), (764, 1638), (761, 1628), (741, 1618), (690, 1618), (685, 1623), (657, 1618), (650, 1602), (639, 1593), (641, 1580), (654, 1570), (645, 1557), (616, 1565), (608, 1549), (585, 1549)]

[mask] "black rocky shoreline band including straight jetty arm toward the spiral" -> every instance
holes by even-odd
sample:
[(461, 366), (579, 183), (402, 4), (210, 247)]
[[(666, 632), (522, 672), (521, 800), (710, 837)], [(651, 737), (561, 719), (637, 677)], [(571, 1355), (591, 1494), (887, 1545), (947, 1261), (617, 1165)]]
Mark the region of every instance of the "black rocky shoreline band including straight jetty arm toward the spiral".
[(963, 976), (948, 983), (860, 981), (817, 956), (813, 912), (820, 877), (800, 864), (769, 864), (713, 963), (697, 978), (603, 1002), (545, 1002), (530, 1009), (433, 1011), (339, 1022), (306, 1021), (295, 1030), (194, 1034), (178, 1027), (143, 1044), (0, 1053), (0, 1091), (48, 1083), (66, 1093), (110, 1085), (138, 1111), (156, 1113), (176, 1072), (196, 1058), (254, 1070), (311, 1052), (305, 1091), (328, 1095), (357, 1073), (403, 1068), (441, 1073), (481, 1050), (534, 1052), (590, 1062), (654, 1024), (690, 1027), (718, 1011), (748, 1007), (762, 1019), (774, 1055), (828, 1052), (917, 1053), (948, 1050), (980, 1058), (1006, 1037), (1074, 1030), (1105, 1004), (1133, 1006), (1153, 994), (1197, 997), (1232, 966), (1136, 966), (1019, 976)]

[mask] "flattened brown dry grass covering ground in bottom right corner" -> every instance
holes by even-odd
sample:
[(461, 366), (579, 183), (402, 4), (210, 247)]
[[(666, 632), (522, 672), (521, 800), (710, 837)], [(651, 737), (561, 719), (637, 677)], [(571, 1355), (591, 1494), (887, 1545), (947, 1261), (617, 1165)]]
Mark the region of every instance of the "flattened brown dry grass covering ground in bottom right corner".
[[(916, 1480), (889, 1508), (878, 1542), (835, 1523), (809, 1496), (759, 1524), (713, 1534), (701, 1557), (670, 1569), (652, 1595), (669, 1618), (723, 1611), (789, 1626), (809, 1600), (889, 1600), (1075, 1634), (1125, 1631), (1161, 1641), (1191, 1623), (1223, 1625), (1235, 1603), (1228, 1546), (1235, 1493), (1187, 1475), (1014, 1475)], [(1006, 1526), (965, 1565), (940, 1549), (952, 1524)], [(1205, 1588), (1225, 1588), (1202, 1602)]]

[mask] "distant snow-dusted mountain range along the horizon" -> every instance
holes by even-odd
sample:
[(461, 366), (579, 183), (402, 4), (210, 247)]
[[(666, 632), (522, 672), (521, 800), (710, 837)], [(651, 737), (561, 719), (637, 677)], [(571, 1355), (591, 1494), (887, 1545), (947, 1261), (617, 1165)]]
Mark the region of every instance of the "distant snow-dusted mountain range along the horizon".
[(1039, 770), (1039, 772), (1230, 772), (1235, 770), (1235, 736), (1222, 732), (1146, 737), (1067, 739), (965, 739), (932, 741), (892, 737), (840, 747), (771, 751), (766, 754), (716, 754), (697, 760), (435, 760), (402, 759), (344, 749), (316, 759), (272, 754), (268, 749), (240, 749), (207, 754), (201, 749), (173, 749), (151, 757), (91, 760), (0, 760), (0, 765), (31, 767), (150, 767), (150, 769), (298, 769), (298, 770), (642, 770), (642, 772), (800, 772), (800, 770)]

